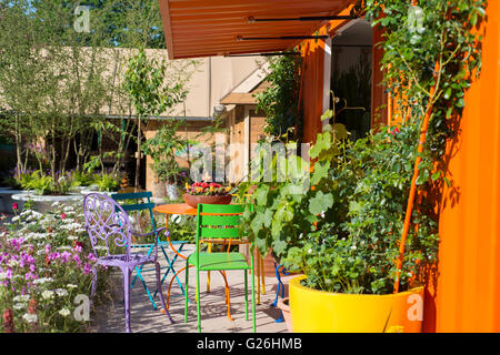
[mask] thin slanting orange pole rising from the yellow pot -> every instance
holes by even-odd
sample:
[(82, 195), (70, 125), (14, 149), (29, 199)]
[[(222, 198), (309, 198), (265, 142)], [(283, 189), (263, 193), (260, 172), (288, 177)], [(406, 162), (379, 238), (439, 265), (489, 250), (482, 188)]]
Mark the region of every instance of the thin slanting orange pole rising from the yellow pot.
[[(440, 70), (439, 62), (437, 62), (434, 72), (437, 73), (439, 70)], [(426, 144), (427, 130), (429, 128), (429, 121), (430, 121), (431, 111), (432, 111), (432, 100), (436, 94), (437, 84), (438, 84), (438, 82), (436, 82), (436, 84), (431, 88), (431, 90), (429, 92), (429, 103), (427, 105), (426, 115), (423, 116), (422, 128), (420, 130), (420, 140), (419, 140), (419, 148), (418, 148), (419, 155), (417, 156), (417, 159), (414, 161), (413, 176), (411, 179), (410, 196), (408, 197), (407, 214), (404, 215), (404, 224), (403, 224), (403, 230), (402, 230), (402, 234), (401, 234), (401, 241), (399, 244), (399, 257), (397, 261), (398, 270), (396, 272), (394, 293), (399, 292), (401, 265), (402, 265), (403, 256), (404, 256), (404, 244), (407, 243), (408, 230), (410, 229), (410, 222), (411, 222), (411, 213), (413, 211), (413, 201), (414, 201), (414, 195), (417, 193), (417, 178), (419, 176), (419, 172), (420, 172), (419, 165), (420, 165), (420, 162), (422, 161), (420, 153), (423, 152), (423, 145)]]

